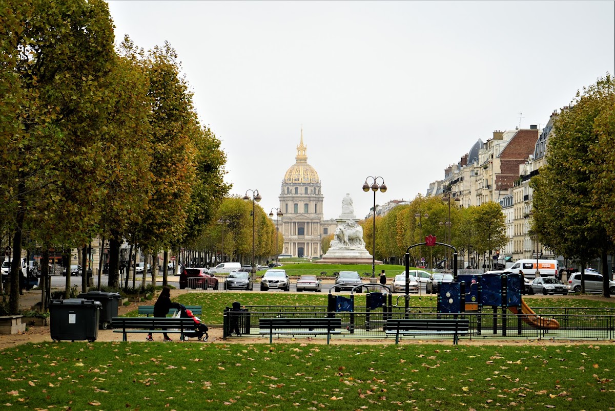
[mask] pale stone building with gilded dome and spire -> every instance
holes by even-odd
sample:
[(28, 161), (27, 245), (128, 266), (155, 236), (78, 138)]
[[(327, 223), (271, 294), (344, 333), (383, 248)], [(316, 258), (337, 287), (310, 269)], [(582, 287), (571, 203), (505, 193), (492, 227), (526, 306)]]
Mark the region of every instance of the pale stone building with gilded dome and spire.
[(290, 166), (282, 180), (280, 210), (284, 251), (293, 257), (319, 257), (322, 254), (320, 239), (330, 228), (323, 227), (323, 195), (320, 178), (314, 167), (308, 164), (307, 147), (301, 141), (297, 146), (295, 164)]

